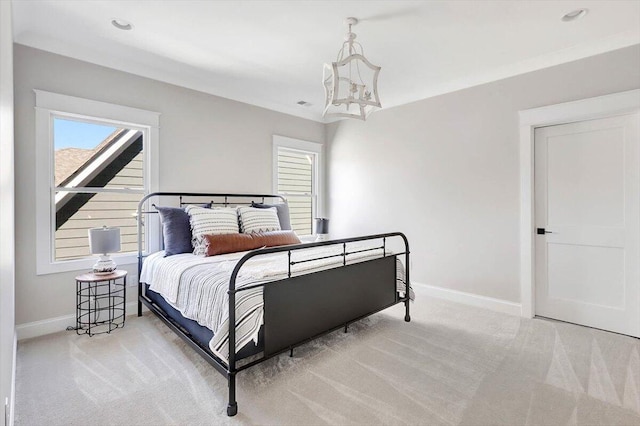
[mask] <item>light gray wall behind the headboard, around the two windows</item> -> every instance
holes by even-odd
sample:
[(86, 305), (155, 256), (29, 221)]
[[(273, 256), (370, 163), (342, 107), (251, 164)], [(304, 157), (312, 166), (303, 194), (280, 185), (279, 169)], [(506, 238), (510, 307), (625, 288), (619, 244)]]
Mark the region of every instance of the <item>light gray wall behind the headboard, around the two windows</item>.
[[(36, 275), (33, 89), (160, 112), (163, 191), (271, 193), (273, 134), (324, 141), (321, 123), (21, 45), (14, 45), (14, 74), (17, 324), (75, 312), (76, 272)], [(135, 266), (126, 269), (136, 282)]]

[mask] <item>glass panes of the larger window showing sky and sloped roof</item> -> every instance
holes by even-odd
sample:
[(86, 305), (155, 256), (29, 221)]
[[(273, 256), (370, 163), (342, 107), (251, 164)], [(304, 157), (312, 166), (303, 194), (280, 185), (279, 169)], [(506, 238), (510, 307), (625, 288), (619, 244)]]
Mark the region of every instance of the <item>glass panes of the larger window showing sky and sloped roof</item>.
[(140, 130), (53, 115), (54, 261), (91, 256), (87, 230), (102, 225), (120, 228), (122, 253), (137, 251), (143, 147)]

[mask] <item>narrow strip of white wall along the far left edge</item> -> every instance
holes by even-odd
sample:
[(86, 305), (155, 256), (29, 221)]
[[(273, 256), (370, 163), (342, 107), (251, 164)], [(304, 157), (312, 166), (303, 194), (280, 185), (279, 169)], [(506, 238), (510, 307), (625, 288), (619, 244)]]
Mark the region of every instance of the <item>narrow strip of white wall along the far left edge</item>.
[[(12, 424), (13, 419), (16, 329), (12, 39), (11, 2), (0, 2), (0, 406), (4, 417), (3, 424), (6, 420), (8, 424)], [(9, 405), (5, 408), (7, 399)]]

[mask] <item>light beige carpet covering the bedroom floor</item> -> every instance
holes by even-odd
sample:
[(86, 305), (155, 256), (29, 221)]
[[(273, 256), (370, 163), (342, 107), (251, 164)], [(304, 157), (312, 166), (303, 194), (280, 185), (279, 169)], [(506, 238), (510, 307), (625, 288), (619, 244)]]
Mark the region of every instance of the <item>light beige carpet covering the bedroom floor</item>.
[[(418, 289), (419, 290), (419, 289)], [(227, 382), (151, 314), (18, 344), (16, 425), (640, 425), (640, 341), (421, 296)]]

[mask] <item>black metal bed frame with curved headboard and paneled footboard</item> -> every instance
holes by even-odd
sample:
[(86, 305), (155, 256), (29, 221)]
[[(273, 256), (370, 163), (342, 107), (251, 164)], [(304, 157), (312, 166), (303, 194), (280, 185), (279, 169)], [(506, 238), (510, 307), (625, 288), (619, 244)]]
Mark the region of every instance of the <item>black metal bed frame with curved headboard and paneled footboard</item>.
[[(185, 201), (185, 198), (211, 198), (212, 205), (224, 206), (248, 205), (256, 199), (263, 203), (265, 199), (279, 199), (284, 203), (287, 201), (280, 195), (155, 192), (146, 195), (138, 204), (138, 316), (142, 315), (142, 304), (146, 305), (151, 312), (157, 315), (171, 330), (227, 378), (229, 385), (228, 416), (234, 416), (238, 412), (236, 401), (236, 374), (238, 372), (286, 351), (290, 351), (290, 356), (293, 356), (294, 348), (343, 327), (346, 333), (349, 324), (398, 303), (404, 303), (405, 305), (404, 320), (411, 321), (409, 315), (409, 242), (401, 232), (261, 248), (245, 254), (236, 264), (229, 280), (229, 290), (227, 291), (229, 295), (229, 358), (228, 362), (225, 362), (215, 356), (209, 348), (194, 340), (187, 331), (144, 294), (143, 283), (140, 281), (142, 262), (146, 257), (143, 254), (142, 229), (145, 226), (145, 215), (158, 213), (151, 210), (151, 208), (146, 210), (144, 208), (146, 204), (150, 204), (149, 199), (152, 197), (178, 197), (180, 206), (202, 202), (195, 200)], [(223, 199), (224, 201), (215, 201), (215, 199)], [(251, 201), (237, 202), (230, 201), (230, 199)], [(403, 240), (403, 252), (391, 253), (387, 251), (387, 239), (394, 237), (399, 237)], [(365, 250), (347, 251), (347, 243), (366, 240), (382, 240), (382, 245)], [(342, 253), (310, 260), (291, 260), (292, 252), (312, 247), (334, 245), (342, 245)], [(347, 256), (351, 254), (379, 249), (383, 251), (382, 257), (347, 264)], [(288, 253), (289, 263), (287, 278), (236, 289), (238, 273), (247, 261), (261, 255), (285, 252)], [(404, 297), (399, 296), (396, 288), (396, 257), (402, 255), (405, 256), (406, 271)], [(342, 257), (342, 265), (310, 274), (291, 276), (291, 267), (293, 265), (329, 257)], [(239, 366), (235, 350), (236, 293), (256, 287), (263, 287), (264, 350), (262, 356), (258, 359)], [(366, 297), (362, 297), (363, 295), (366, 295)]]

